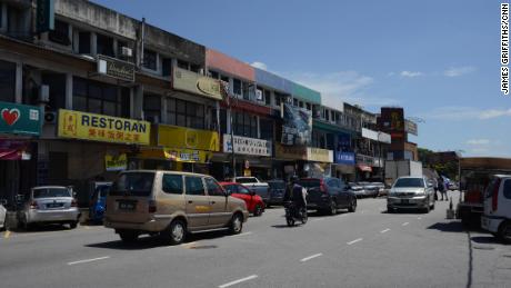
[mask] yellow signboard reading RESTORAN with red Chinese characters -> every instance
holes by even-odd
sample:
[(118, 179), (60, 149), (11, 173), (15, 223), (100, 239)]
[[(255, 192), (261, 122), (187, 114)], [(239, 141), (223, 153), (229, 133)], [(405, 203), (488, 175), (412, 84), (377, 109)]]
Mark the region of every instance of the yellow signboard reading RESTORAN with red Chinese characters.
[(59, 110), (58, 136), (63, 138), (149, 145), (150, 129), (148, 121)]

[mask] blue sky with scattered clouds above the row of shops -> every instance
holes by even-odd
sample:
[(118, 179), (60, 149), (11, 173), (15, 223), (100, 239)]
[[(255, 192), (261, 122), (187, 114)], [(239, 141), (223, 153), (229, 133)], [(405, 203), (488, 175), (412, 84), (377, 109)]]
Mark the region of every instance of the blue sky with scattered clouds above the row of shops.
[(511, 158), (494, 0), (94, 0), (305, 85), (323, 103), (404, 108), (410, 141)]

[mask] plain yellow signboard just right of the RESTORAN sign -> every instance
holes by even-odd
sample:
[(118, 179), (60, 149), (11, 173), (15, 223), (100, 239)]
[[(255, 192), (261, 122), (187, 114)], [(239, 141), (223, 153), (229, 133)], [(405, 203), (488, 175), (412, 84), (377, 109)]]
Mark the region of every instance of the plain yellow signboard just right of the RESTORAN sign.
[(214, 131), (159, 125), (156, 146), (220, 151), (220, 138)]

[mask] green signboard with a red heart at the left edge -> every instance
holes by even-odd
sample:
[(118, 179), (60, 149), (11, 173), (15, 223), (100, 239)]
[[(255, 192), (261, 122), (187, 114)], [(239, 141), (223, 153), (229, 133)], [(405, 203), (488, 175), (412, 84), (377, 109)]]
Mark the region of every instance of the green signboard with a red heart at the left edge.
[(41, 119), (39, 107), (0, 101), (0, 133), (39, 136)]

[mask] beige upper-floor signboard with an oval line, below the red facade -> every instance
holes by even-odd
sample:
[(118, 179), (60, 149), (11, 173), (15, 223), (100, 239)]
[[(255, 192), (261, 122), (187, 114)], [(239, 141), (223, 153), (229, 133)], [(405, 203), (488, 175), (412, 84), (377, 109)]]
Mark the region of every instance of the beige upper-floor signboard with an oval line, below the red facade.
[(222, 100), (220, 81), (174, 67), (172, 85), (176, 90), (197, 93), (203, 97)]

